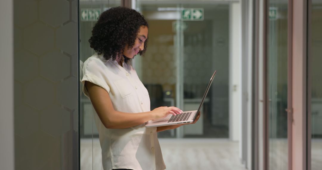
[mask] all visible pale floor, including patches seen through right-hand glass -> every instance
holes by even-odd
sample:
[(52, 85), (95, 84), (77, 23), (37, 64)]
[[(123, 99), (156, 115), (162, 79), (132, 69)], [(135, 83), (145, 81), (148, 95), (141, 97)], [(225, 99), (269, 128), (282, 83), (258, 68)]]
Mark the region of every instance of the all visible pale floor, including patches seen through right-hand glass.
[[(159, 141), (167, 170), (245, 170), (239, 159), (238, 142), (200, 138)], [(321, 170), (322, 139), (313, 139), (311, 147), (311, 169)], [(287, 169), (287, 149), (286, 139), (270, 139), (269, 169)], [(102, 169), (99, 140), (81, 139), (81, 170), (91, 169)]]

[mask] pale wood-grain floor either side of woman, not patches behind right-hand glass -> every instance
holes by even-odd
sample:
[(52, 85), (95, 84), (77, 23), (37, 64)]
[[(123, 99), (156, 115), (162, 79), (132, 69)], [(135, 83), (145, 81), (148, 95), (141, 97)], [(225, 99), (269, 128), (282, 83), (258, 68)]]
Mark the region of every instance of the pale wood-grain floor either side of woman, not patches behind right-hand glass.
[[(238, 142), (227, 139), (159, 139), (159, 142), (167, 170), (246, 170), (239, 160)], [(102, 169), (101, 159), (99, 140), (81, 139), (81, 170)]]

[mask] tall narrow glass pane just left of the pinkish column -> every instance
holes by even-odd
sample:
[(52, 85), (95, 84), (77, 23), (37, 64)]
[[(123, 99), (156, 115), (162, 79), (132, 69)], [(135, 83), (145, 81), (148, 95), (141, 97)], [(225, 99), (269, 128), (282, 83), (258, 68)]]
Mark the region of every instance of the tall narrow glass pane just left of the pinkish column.
[(270, 1), (268, 21), (267, 94), (269, 169), (288, 168), (287, 140), (287, 1)]

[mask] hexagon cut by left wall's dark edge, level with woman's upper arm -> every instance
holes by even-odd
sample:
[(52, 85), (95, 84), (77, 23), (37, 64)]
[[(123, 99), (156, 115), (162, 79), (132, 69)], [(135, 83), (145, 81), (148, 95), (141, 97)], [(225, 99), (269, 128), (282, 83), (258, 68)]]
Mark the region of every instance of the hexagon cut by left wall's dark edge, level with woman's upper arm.
[(77, 108), (78, 102), (75, 100), (75, 96), (78, 95), (77, 86), (78, 81), (74, 77), (70, 77), (58, 85), (57, 99), (63, 106), (69, 109)]

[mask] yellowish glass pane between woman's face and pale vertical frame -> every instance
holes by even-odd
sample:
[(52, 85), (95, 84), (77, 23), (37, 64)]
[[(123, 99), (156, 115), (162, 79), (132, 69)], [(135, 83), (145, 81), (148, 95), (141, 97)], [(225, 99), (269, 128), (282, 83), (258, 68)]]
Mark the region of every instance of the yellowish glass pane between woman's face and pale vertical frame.
[[(176, 106), (176, 52), (174, 17), (160, 15), (158, 8), (176, 5), (141, 5), (143, 14), (149, 24), (149, 43), (145, 56), (135, 58), (135, 69), (142, 83), (146, 86), (151, 103), (151, 110), (160, 106)], [(176, 11), (173, 11), (176, 12)], [(176, 131), (158, 132), (158, 137), (176, 137)]]

